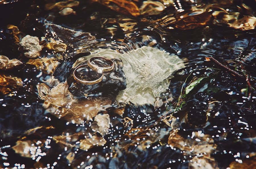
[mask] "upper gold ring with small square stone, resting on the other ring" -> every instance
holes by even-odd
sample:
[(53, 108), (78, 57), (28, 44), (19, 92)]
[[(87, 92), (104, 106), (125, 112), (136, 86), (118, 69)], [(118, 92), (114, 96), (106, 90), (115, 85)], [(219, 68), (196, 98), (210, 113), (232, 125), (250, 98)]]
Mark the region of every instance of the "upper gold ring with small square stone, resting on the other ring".
[(88, 60), (88, 66), (99, 73), (104, 73), (114, 69), (114, 62), (105, 57), (92, 57)]

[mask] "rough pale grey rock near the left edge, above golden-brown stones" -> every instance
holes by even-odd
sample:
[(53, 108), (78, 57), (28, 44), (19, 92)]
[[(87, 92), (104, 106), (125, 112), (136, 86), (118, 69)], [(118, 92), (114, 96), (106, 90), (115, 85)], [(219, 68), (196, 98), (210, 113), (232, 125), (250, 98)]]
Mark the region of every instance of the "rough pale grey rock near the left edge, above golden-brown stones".
[(27, 58), (36, 58), (40, 55), (42, 47), (39, 45), (38, 37), (26, 35), (19, 44)]

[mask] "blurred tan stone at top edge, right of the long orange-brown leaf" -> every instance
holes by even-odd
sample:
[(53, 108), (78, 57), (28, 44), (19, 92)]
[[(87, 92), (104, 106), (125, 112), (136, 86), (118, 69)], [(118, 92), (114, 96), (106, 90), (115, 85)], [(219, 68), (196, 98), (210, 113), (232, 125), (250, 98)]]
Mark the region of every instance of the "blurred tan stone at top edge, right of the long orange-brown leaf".
[(164, 4), (158, 1), (143, 1), (140, 8), (140, 13), (142, 15), (157, 15), (164, 10)]

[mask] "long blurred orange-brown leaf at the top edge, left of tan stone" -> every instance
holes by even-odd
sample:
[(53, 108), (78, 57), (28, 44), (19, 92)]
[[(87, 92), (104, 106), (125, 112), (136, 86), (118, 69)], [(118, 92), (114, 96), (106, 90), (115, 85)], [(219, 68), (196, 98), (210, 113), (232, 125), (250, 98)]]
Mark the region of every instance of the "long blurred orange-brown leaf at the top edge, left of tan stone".
[(117, 12), (132, 15), (132, 16), (139, 16), (139, 8), (137, 5), (132, 1), (127, 0), (95, 0), (95, 2), (98, 2), (102, 5), (105, 5), (106, 7), (115, 10)]

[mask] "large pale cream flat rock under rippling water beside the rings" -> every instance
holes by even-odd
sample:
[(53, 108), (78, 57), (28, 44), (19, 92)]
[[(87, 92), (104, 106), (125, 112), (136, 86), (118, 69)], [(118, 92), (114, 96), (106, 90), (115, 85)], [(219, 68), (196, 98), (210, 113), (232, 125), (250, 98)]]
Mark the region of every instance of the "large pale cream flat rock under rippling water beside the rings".
[(77, 63), (94, 56), (122, 59), (127, 85), (116, 98), (121, 104), (132, 102), (136, 105), (154, 105), (155, 97), (168, 88), (168, 77), (184, 67), (178, 56), (147, 46), (124, 54), (110, 49), (100, 49), (91, 52), (90, 56), (79, 58)]

